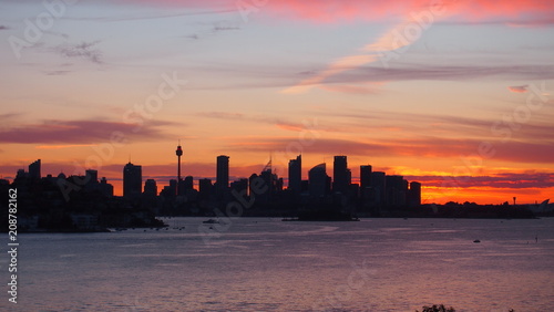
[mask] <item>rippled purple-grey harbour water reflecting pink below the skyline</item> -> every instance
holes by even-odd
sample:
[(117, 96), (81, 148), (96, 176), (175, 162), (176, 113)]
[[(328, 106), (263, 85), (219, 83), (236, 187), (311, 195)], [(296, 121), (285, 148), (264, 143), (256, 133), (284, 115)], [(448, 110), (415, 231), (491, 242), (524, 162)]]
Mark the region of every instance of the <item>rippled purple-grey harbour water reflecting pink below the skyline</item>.
[[(3, 292), (0, 310), (551, 311), (554, 303), (552, 218), (240, 218), (214, 225), (223, 231), (209, 241), (198, 232), (203, 220), (174, 218), (167, 231), (21, 235), (19, 303)], [(6, 281), (8, 257), (0, 261)]]

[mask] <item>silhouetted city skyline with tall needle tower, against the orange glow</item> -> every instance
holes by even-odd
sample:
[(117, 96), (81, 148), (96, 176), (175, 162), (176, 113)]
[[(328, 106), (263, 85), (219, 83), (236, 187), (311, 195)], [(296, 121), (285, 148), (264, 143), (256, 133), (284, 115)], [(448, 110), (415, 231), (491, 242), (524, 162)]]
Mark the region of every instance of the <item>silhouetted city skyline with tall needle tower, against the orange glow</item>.
[[(332, 178), (327, 175), (327, 165), (324, 163), (310, 168), (308, 179), (304, 180), (301, 155), (290, 159), (286, 188), (284, 179), (271, 167), (271, 160), (260, 173), (230, 181), (229, 156), (219, 155), (216, 157), (215, 181), (201, 178), (197, 190), (192, 176), (181, 179), (181, 145), (177, 146), (176, 155), (177, 179), (170, 180), (155, 205), (163, 215), (209, 216), (216, 208), (225, 209), (238, 196), (240, 200), (249, 202), (245, 215), (281, 216), (295, 215), (302, 209), (334, 209), (360, 216), (382, 216), (421, 205), (421, 184), (408, 183), (402, 176), (372, 171), (370, 165), (360, 166), (360, 183), (352, 183), (348, 158), (343, 155), (335, 156)], [(127, 164), (125, 168), (127, 166), (136, 167)], [(127, 179), (131, 184), (132, 177), (124, 175), (124, 184)], [(144, 188), (144, 193), (148, 189), (151, 196), (153, 183), (148, 181), (151, 186)]]

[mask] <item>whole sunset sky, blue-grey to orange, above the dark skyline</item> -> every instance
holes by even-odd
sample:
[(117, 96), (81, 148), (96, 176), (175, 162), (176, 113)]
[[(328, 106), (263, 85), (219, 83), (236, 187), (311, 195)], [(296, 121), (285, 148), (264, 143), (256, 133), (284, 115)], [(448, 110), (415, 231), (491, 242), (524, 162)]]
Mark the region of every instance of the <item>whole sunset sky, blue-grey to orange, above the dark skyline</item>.
[(422, 201), (554, 199), (552, 1), (0, 0), (0, 176), (158, 188), (347, 155)]

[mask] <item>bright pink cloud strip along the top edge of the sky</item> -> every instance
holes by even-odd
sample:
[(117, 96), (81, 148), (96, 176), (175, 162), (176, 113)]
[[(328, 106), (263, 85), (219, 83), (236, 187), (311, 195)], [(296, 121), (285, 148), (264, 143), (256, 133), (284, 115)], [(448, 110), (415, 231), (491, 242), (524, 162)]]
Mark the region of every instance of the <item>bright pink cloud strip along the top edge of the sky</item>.
[(430, 4), (444, 7), (449, 14), (466, 20), (484, 20), (489, 18), (525, 18), (536, 20), (541, 17), (548, 21), (554, 13), (554, 4), (548, 0), (120, 0), (127, 3), (145, 3), (153, 6), (170, 6), (191, 9), (212, 9), (214, 11), (229, 10), (240, 13), (263, 13), (280, 19), (295, 19), (311, 22), (337, 21), (375, 21), (390, 17), (407, 17), (412, 12), (428, 10)]

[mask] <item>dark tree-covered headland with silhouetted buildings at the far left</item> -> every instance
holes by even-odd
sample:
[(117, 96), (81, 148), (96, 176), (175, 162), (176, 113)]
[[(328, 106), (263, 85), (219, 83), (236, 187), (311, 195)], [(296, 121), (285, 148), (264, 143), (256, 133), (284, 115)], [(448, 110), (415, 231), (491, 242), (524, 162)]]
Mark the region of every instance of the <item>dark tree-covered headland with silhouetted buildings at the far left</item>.
[[(98, 170), (42, 177), (41, 160), (38, 159), (29, 165), (28, 171), (19, 169), (11, 184), (0, 179), (0, 191), (7, 194), (9, 188), (17, 189), (18, 230), (21, 231), (102, 231), (162, 226), (155, 211), (146, 207), (157, 201), (157, 190), (150, 190), (152, 201), (143, 200), (141, 167), (127, 164), (123, 173), (126, 197), (116, 197), (105, 177), (99, 180)], [(152, 181), (147, 183), (148, 187), (152, 187)], [(3, 215), (8, 212), (1, 202), (0, 208)]]

